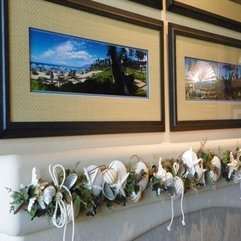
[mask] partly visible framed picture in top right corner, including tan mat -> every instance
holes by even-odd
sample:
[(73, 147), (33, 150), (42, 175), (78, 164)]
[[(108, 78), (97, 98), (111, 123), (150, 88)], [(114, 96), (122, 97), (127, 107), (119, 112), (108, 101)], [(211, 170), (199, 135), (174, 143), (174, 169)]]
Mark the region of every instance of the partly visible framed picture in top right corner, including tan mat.
[(166, 0), (167, 10), (226, 27), (235, 31), (241, 29), (240, 0)]

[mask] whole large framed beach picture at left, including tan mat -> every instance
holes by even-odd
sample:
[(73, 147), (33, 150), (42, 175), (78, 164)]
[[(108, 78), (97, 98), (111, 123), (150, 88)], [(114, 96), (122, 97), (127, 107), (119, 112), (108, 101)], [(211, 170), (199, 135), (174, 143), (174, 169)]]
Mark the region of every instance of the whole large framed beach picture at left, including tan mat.
[(1, 138), (164, 131), (162, 21), (86, 0), (1, 5)]

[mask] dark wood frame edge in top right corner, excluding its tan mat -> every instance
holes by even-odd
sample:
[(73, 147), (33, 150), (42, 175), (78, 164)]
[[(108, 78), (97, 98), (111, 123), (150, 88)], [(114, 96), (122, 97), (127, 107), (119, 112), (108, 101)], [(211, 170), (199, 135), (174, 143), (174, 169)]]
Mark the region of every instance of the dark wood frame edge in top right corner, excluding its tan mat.
[[(240, 6), (241, 8), (241, 6)], [(201, 8), (193, 7), (188, 4), (184, 4), (178, 0), (166, 0), (166, 9), (174, 13), (181, 14), (183, 16), (189, 16), (191, 18), (205, 21), (211, 24), (215, 24), (221, 27), (232, 29), (235, 31), (241, 31), (241, 23)]]

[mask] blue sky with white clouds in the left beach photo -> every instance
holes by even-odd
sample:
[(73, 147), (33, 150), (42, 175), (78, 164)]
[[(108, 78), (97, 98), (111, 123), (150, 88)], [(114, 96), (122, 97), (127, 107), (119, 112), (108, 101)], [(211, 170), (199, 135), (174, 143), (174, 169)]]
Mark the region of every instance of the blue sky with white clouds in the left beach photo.
[(107, 45), (69, 35), (30, 28), (30, 61), (82, 67), (107, 58)]

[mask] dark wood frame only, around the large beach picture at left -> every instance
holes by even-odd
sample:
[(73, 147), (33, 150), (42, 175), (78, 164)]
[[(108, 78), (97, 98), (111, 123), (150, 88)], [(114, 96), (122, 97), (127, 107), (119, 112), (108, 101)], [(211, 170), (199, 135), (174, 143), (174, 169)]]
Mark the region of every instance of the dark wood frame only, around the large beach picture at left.
[[(78, 9), (90, 14), (103, 16), (108, 19), (123, 21), (143, 28), (150, 28), (159, 33), (160, 43), (160, 120), (157, 121), (20, 121), (11, 120), (11, 73), (9, 59), (9, 29), (8, 29), (8, 0), (1, 0), (1, 89), (0, 89), (0, 138), (66, 136), (87, 134), (113, 134), (113, 133), (142, 133), (163, 132), (164, 124), (164, 84), (163, 84), (163, 22), (135, 13), (120, 10), (89, 0), (48, 0), (69, 8)], [(56, 5), (56, 6), (57, 6)]]

